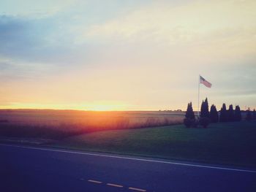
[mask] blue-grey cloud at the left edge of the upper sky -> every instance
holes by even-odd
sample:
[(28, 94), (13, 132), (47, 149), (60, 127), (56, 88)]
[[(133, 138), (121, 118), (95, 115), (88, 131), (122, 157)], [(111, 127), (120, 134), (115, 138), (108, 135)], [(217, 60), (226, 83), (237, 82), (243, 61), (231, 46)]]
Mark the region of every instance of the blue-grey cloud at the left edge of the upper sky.
[(0, 15), (0, 56), (12, 61), (48, 63), (67, 67), (86, 55), (87, 47), (75, 46), (59, 18), (24, 18)]

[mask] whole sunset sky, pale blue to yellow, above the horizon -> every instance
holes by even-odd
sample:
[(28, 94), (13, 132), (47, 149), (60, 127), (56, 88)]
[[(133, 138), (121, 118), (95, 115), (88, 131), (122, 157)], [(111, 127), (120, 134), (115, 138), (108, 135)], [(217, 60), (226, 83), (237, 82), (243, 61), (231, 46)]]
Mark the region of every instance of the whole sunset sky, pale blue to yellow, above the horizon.
[(0, 108), (256, 108), (255, 0), (1, 0)]

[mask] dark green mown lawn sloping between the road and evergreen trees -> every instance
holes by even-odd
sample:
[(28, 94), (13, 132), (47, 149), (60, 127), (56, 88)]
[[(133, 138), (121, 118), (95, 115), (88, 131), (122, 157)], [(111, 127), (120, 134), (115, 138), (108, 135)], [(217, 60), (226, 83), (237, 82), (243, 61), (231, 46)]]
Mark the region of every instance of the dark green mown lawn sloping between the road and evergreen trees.
[(56, 147), (256, 168), (256, 122), (99, 131), (69, 137)]

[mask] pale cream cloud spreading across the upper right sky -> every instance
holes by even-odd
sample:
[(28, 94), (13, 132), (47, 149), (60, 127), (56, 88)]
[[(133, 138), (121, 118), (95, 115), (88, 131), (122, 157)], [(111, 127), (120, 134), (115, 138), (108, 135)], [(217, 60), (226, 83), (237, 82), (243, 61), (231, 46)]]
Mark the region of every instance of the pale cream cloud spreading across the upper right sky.
[(255, 1), (167, 1), (96, 24), (84, 39), (186, 46), (208, 55), (255, 55)]

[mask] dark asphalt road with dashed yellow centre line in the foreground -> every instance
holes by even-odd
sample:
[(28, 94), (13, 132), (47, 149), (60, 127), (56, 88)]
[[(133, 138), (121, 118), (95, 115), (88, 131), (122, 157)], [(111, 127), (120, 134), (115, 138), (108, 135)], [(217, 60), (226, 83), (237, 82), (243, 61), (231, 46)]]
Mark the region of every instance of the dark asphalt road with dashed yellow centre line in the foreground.
[(0, 154), (2, 192), (256, 191), (252, 170), (11, 145)]

